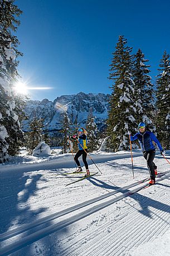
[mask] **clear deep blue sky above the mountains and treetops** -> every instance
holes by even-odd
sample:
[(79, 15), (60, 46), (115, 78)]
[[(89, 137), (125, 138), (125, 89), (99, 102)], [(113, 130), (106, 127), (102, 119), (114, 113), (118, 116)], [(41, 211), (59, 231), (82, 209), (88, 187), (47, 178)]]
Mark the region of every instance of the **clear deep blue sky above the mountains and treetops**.
[(32, 99), (111, 93), (109, 64), (124, 35), (142, 49), (155, 79), (163, 51), (170, 54), (169, 0), (17, 0), (23, 11), (17, 36), (24, 56), (18, 70)]

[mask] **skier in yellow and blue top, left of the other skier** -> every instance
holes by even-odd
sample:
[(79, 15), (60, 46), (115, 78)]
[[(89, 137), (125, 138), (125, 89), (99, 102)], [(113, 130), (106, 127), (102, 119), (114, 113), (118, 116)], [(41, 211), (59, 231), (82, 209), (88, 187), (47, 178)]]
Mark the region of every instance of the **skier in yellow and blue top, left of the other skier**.
[(82, 161), (84, 162), (85, 168), (86, 168), (86, 174), (85, 176), (89, 176), (90, 172), (89, 172), (89, 167), (88, 167), (88, 163), (86, 161), (87, 158), (87, 154), (88, 154), (88, 147), (87, 147), (87, 137), (86, 137), (86, 131), (84, 130), (84, 128), (79, 128), (77, 130), (77, 135), (73, 135), (71, 136), (71, 139), (77, 140), (78, 143), (78, 147), (79, 150), (77, 151), (74, 160), (78, 166), (78, 169), (75, 171), (76, 173), (82, 172), (81, 169), (81, 165), (79, 162), (79, 157), (82, 155)]

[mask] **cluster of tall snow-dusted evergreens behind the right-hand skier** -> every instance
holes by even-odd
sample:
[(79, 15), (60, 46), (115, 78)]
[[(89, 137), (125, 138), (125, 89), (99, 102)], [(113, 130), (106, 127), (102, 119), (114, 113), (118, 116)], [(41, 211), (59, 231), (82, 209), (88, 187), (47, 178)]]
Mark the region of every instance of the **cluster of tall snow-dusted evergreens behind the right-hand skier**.
[[(170, 148), (170, 72), (169, 54), (164, 51), (156, 84), (152, 78), (142, 50), (132, 54), (127, 39), (119, 36), (110, 64), (111, 86), (108, 113), (108, 148), (113, 151), (128, 150), (128, 131), (135, 134), (139, 122), (157, 132), (164, 149)], [(137, 144), (133, 144), (133, 148)]]

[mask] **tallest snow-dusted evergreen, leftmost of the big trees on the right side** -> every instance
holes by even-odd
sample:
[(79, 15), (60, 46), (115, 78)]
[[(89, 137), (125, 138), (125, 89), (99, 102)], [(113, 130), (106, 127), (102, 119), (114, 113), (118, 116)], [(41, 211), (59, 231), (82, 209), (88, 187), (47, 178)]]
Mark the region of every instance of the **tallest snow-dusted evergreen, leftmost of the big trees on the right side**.
[[(109, 79), (114, 83), (111, 87), (110, 110), (107, 120), (107, 135), (110, 136), (108, 147), (111, 150), (129, 149), (128, 130), (136, 131), (135, 103), (133, 99), (134, 82), (132, 79), (133, 55), (132, 48), (126, 46), (127, 40), (119, 36), (110, 65)], [(135, 147), (135, 145), (134, 145)]]

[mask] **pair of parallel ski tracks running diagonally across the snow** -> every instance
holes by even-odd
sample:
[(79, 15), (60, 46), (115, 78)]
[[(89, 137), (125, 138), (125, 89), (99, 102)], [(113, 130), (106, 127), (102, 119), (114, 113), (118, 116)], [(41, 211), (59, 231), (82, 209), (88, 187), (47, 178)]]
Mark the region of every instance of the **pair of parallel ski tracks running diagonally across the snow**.
[[(157, 182), (162, 181), (163, 179), (166, 179), (168, 177), (170, 177), (170, 171), (158, 174)], [(56, 214), (52, 214), (52, 215), (43, 217), (42, 219), (39, 219), (36, 222), (32, 222), (31, 224), (24, 225), (20, 228), (13, 229), (11, 231), (7, 231), (6, 233), (1, 235), (1, 242), (6, 241), (7, 239), (12, 239), (18, 235), (20, 235), (20, 239), (18, 239), (18, 240), (15, 239), (9, 245), (4, 246), (1, 249), (1, 255), (9, 255), (11, 253), (14, 253), (17, 250), (19, 250), (29, 244), (32, 244), (33, 242), (40, 240), (47, 235), (50, 235), (58, 230), (61, 230), (64, 227), (69, 226), (69, 225), (75, 223), (76, 221), (79, 221), (79, 220), (85, 218), (86, 216), (94, 214), (95, 212), (97, 212), (105, 207), (108, 207), (108, 206), (112, 205), (113, 203), (122, 200), (125, 197), (133, 195), (134, 193), (136, 193), (136, 192), (140, 191), (141, 189), (148, 186), (148, 183), (144, 183), (146, 181), (148, 181), (148, 179), (143, 179), (141, 181), (132, 183), (128, 186), (116, 189), (113, 192), (109, 192), (105, 195), (93, 198), (92, 200), (85, 201), (78, 205), (67, 208), (66, 210), (57, 212)], [(142, 184), (142, 186), (139, 186), (140, 184)], [(134, 189), (131, 190), (130, 188), (134, 188)], [(122, 193), (122, 195), (118, 195), (117, 197), (111, 198), (109, 201), (101, 202), (105, 198), (114, 196), (118, 193)], [(96, 202), (98, 202), (97, 205), (91, 206), (90, 208), (88, 208), (88, 210), (84, 210), (84, 211), (82, 210), (80, 213), (76, 214), (76, 211), (79, 210), (80, 208), (84, 208), (84, 207), (89, 206)], [(56, 224), (51, 225), (51, 223), (48, 223), (51, 220), (56, 220), (57, 218), (59, 218), (61, 216), (65, 216), (67, 214), (70, 214), (74, 211), (75, 211), (74, 216), (66, 217), (64, 220), (59, 221)], [(139, 225), (142, 226), (142, 222), (139, 222)], [(142, 227), (141, 227), (141, 229), (142, 229)], [(27, 234), (27, 231), (29, 234)], [(129, 234), (129, 232), (128, 232), (128, 234)], [(22, 234), (22, 236), (21, 236), (21, 234)], [(134, 234), (134, 235), (138, 236), (138, 234)], [(117, 246), (117, 249), (119, 250), (119, 243), (116, 246)], [(115, 249), (114, 249), (114, 252), (116, 252)], [(93, 253), (89, 252), (88, 255), (93, 255)], [(107, 255), (109, 255), (109, 252)], [(115, 255), (117, 255), (117, 254), (115, 254)]]

